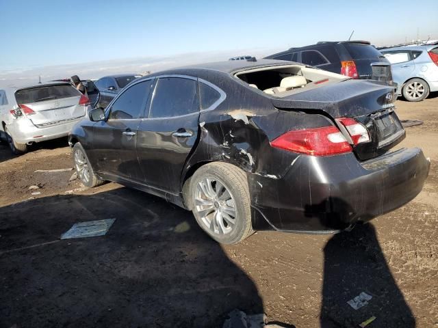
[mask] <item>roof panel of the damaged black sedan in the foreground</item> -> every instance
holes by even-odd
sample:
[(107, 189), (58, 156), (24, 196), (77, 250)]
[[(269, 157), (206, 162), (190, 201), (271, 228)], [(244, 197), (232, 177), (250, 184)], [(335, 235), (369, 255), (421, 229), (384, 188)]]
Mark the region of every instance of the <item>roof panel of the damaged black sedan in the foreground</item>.
[(164, 70), (162, 72), (154, 72), (151, 75), (160, 75), (163, 73), (166, 74), (168, 72), (172, 72), (173, 70), (192, 70), (192, 69), (216, 70), (218, 72), (232, 73), (232, 72), (238, 72), (240, 70), (248, 70), (252, 68), (261, 68), (266, 66), (279, 66), (279, 65), (290, 66), (291, 64), (303, 65), (300, 63), (291, 63), (291, 61), (275, 60), (275, 59), (257, 59), (257, 61), (227, 60), (227, 61), (216, 61), (213, 63), (206, 63), (206, 64), (196, 64), (190, 66), (177, 67), (170, 70)]

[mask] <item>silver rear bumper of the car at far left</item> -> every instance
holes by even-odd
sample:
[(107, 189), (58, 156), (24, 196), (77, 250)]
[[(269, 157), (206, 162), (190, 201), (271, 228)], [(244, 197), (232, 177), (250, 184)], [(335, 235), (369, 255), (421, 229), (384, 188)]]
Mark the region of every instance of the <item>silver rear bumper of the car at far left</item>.
[(14, 120), (12, 124), (8, 124), (8, 129), (17, 143), (40, 142), (65, 137), (83, 117), (44, 126), (43, 128), (36, 127), (28, 118), (20, 118)]

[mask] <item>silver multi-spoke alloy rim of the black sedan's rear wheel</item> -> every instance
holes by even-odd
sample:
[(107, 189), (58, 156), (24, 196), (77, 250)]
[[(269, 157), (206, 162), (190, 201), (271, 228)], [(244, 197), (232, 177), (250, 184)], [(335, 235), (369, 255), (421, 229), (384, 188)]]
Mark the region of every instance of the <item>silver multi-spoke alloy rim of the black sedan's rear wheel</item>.
[(229, 234), (237, 223), (233, 195), (216, 178), (203, 178), (196, 186), (194, 210), (212, 233)]

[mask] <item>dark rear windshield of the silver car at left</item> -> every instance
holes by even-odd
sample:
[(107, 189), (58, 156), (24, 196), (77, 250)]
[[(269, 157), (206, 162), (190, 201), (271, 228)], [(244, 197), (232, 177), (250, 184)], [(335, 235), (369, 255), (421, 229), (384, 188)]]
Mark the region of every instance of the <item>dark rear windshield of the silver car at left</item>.
[(44, 87), (32, 87), (31, 89), (18, 90), (15, 92), (18, 104), (31, 104), (45, 100), (62, 99), (80, 96), (72, 85), (49, 85)]

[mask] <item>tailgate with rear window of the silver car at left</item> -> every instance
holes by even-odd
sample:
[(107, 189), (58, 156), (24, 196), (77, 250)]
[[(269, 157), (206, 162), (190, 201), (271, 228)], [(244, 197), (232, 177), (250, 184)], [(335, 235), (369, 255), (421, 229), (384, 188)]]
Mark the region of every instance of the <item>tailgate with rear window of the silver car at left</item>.
[(25, 115), (39, 128), (75, 120), (86, 113), (86, 106), (79, 105), (81, 93), (69, 83), (17, 90), (15, 98), (18, 105), (34, 111)]

